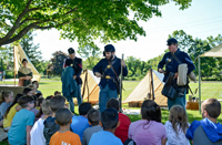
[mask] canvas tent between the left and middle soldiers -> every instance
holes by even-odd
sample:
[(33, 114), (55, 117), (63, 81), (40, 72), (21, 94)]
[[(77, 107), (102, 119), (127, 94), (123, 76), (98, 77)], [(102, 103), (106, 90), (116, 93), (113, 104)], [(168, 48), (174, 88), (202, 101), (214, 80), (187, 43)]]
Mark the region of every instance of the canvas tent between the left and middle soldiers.
[(100, 79), (97, 77), (93, 74), (93, 72), (89, 70), (85, 70), (81, 74), (81, 79), (82, 79), (81, 94), (83, 100), (87, 100), (93, 104), (99, 102)]

